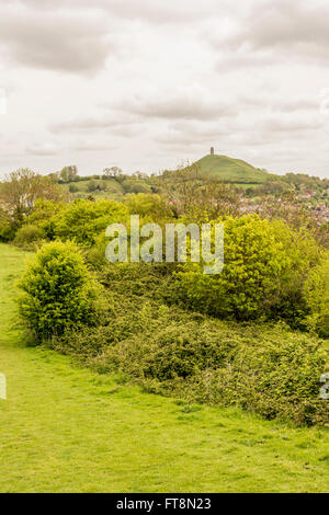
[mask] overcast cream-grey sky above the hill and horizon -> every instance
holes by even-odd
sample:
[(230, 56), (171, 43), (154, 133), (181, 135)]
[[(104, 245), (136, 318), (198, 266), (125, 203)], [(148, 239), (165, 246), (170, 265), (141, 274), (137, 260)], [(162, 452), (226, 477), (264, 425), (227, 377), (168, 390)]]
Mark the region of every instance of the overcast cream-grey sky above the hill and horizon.
[(1, 0), (0, 112), (0, 175), (214, 146), (329, 178), (328, 0)]

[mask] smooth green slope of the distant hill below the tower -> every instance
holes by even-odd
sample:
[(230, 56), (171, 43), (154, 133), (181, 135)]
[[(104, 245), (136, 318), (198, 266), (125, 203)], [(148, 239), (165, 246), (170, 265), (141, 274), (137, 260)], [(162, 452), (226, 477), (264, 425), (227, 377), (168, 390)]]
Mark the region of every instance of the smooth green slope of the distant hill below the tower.
[(241, 159), (227, 156), (208, 154), (196, 161), (202, 173), (216, 176), (223, 181), (241, 184), (260, 184), (269, 181), (272, 174), (252, 167)]

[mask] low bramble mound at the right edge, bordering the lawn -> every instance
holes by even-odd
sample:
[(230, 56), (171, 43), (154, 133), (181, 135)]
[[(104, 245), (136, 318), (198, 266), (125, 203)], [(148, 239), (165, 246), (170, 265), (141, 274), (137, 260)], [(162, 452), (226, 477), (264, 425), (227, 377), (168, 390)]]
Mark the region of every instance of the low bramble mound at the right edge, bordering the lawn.
[(258, 337), (248, 337), (248, 332), (220, 367), (204, 369), (174, 389), (194, 401), (235, 404), (266, 419), (328, 424), (328, 401), (319, 398), (320, 376), (329, 370), (328, 350), (282, 328), (260, 328)]

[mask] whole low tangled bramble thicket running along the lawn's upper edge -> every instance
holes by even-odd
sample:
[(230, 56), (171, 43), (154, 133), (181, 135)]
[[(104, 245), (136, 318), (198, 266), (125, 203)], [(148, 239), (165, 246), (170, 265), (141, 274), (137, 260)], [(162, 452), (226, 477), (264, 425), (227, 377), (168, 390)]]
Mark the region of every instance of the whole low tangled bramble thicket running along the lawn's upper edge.
[(328, 348), (285, 325), (224, 322), (164, 306), (170, 270), (110, 265), (104, 323), (68, 331), (53, 344), (98, 371), (120, 371), (148, 391), (189, 402), (239, 405), (266, 419), (327, 424), (319, 399)]

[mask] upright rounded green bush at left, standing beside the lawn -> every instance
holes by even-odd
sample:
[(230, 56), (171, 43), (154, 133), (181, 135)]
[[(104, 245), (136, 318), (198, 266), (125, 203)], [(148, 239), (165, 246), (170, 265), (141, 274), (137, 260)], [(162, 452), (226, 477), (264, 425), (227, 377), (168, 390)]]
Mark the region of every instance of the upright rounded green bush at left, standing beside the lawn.
[(98, 320), (97, 284), (72, 242), (43, 245), (19, 286), (20, 313), (38, 341)]

